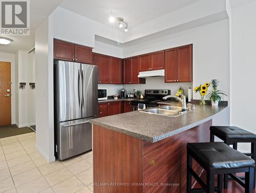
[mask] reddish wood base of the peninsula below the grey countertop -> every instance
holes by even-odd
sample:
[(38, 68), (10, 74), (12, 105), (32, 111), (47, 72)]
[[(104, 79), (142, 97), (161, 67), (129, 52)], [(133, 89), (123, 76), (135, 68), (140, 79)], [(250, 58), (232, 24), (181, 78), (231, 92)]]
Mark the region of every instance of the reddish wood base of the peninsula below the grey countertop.
[[(186, 144), (208, 142), (211, 125), (209, 120), (155, 143), (93, 125), (94, 193), (186, 192)], [(198, 164), (193, 168), (202, 171)]]

